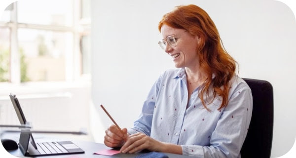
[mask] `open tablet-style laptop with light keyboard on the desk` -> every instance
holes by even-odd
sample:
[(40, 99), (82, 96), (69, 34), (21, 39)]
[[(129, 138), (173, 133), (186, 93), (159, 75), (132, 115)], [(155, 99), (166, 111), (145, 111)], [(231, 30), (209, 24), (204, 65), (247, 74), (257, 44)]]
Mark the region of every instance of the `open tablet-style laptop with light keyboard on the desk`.
[[(28, 123), (16, 96), (10, 93), (9, 97), (21, 124)], [(21, 130), (20, 141), (18, 145), (24, 156), (50, 156), (84, 153), (82, 149), (80, 149), (71, 141), (36, 143), (30, 129)]]

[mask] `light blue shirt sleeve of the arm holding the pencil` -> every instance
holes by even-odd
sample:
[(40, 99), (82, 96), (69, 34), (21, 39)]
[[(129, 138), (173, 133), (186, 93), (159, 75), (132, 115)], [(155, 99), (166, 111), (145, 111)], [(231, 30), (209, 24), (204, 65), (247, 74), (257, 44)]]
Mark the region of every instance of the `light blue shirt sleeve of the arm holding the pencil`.
[(153, 111), (155, 107), (157, 94), (159, 91), (160, 82), (161, 76), (155, 81), (155, 83), (151, 87), (147, 99), (144, 102), (142, 112), (139, 118), (134, 122), (134, 127), (128, 130), (129, 134), (141, 132), (150, 136)]

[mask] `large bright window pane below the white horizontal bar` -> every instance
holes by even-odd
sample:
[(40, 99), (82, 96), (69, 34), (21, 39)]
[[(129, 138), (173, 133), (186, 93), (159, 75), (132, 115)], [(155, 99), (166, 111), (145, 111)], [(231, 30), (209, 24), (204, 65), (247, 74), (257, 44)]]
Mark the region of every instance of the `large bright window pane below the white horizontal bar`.
[(26, 77), (23, 81), (66, 79), (66, 52), (73, 52), (71, 32), (18, 30), (18, 44)]

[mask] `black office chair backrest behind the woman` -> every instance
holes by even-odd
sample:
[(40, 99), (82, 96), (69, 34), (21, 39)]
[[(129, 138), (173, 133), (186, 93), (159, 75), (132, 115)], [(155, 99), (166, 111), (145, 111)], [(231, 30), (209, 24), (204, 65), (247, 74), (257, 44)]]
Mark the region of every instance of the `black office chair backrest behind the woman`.
[(252, 90), (253, 111), (241, 158), (270, 158), (273, 134), (273, 88), (265, 80), (244, 79)]

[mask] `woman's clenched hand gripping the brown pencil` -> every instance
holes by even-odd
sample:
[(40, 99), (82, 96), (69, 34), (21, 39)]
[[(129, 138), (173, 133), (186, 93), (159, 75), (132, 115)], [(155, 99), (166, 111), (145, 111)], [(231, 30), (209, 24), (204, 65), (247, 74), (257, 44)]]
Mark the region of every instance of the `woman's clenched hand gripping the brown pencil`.
[(104, 144), (107, 147), (121, 147), (128, 137), (127, 129), (122, 128), (123, 133), (114, 125), (110, 125), (105, 131)]

